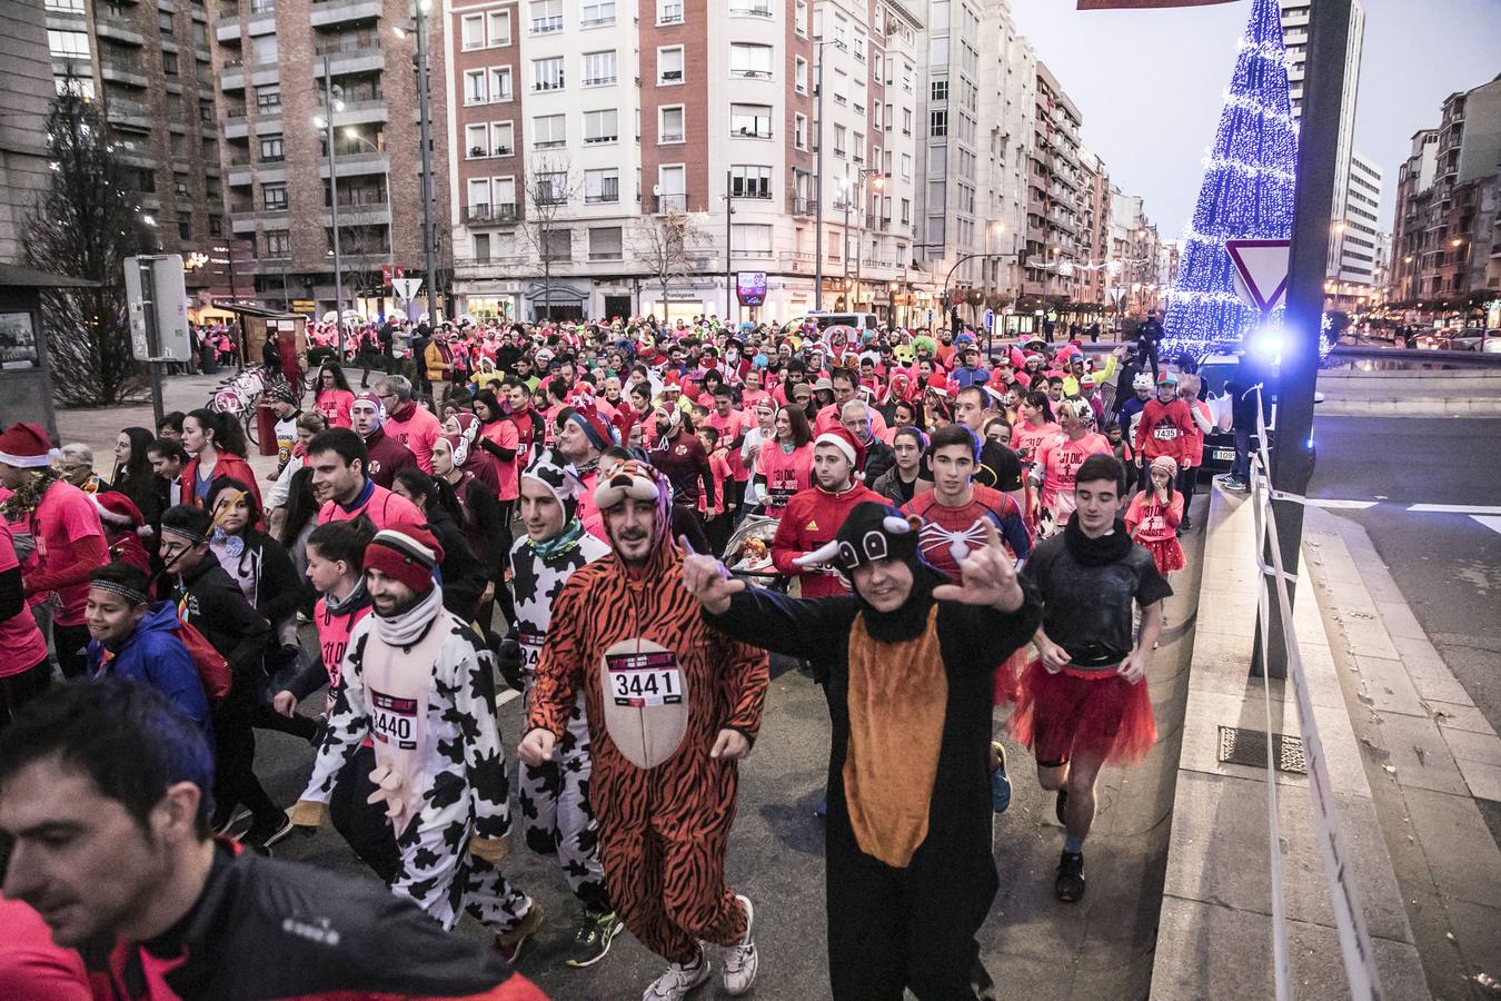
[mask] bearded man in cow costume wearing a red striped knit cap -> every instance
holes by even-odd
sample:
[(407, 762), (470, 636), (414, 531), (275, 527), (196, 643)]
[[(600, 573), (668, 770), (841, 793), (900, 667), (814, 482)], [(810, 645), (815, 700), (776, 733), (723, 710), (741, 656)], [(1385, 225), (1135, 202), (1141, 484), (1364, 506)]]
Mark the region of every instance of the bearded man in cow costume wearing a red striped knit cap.
[(339, 776), (371, 738), (372, 797), (384, 800), (401, 852), (392, 893), (447, 930), (462, 900), (515, 962), (542, 909), (498, 869), (510, 843), (510, 783), (491, 654), (444, 611), (432, 579), (441, 561), (434, 534), (411, 522), (378, 531), (365, 548), (374, 611), (350, 632), (329, 728), (290, 813), (299, 827), (321, 825)]

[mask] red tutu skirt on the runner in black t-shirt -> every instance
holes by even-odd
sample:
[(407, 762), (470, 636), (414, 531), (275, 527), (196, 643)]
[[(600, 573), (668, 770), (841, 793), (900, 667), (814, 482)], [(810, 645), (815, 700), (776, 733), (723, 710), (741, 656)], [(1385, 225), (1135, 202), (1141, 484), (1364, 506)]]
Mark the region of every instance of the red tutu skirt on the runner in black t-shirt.
[(1145, 681), (1132, 684), (1114, 672), (1049, 674), (1042, 660), (1027, 665), (1009, 726), (1046, 764), (1075, 756), (1135, 764), (1157, 741)]

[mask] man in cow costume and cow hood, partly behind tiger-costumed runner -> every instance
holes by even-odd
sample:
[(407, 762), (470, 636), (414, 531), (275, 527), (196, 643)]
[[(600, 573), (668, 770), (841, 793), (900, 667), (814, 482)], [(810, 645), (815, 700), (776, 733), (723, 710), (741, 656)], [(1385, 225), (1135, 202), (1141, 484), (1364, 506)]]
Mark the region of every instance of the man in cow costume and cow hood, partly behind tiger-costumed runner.
[[(578, 470), (555, 449), (542, 450), (521, 474), (521, 524), (527, 534), (510, 549), (516, 615), (500, 645), (500, 671), (525, 693), (528, 705), (537, 684), (537, 656), (552, 621), (552, 602), (573, 570), (609, 555), (609, 545), (588, 534), (579, 521), (582, 489)], [(579, 692), (554, 755), (536, 767), (522, 762), (516, 797), (527, 846), (557, 855), (569, 888), (584, 905), (567, 957), (570, 966), (603, 959), (621, 929), (599, 863), (599, 831), (588, 804), (590, 773), (588, 722)]]

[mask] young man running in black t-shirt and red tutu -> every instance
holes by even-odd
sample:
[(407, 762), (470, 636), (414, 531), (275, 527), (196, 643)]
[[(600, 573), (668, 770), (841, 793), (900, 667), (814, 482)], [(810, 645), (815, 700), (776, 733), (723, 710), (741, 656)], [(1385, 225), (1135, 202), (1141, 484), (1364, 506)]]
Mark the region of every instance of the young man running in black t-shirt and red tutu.
[[(1010, 725), (1037, 756), (1042, 788), (1058, 791), (1067, 836), (1054, 891), (1066, 903), (1084, 897), (1084, 839), (1100, 767), (1139, 761), (1157, 738), (1145, 680), (1162, 632), (1162, 599), (1172, 588), (1115, 515), (1124, 489), (1126, 470), (1115, 456), (1085, 459), (1073, 486), (1073, 518), (1037, 543), (1024, 570), (1043, 597), (1034, 638), (1042, 659), (1022, 677)], [(1135, 645), (1133, 600), (1141, 605)]]

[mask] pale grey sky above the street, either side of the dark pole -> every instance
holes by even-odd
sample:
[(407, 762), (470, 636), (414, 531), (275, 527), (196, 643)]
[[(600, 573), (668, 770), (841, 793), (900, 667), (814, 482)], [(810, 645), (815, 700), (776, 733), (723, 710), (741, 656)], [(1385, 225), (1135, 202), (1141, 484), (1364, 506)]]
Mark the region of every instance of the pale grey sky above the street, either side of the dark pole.
[[(1381, 225), (1390, 230), (1412, 134), (1438, 125), (1444, 98), (1501, 74), (1501, 0), (1361, 2), (1355, 150), (1384, 174)], [(1178, 236), (1193, 213), (1250, 0), (1088, 12), (1073, 0), (1012, 0), (1012, 12), (1084, 114), (1084, 143), (1105, 158), (1111, 180), (1145, 197), (1163, 237)]]

